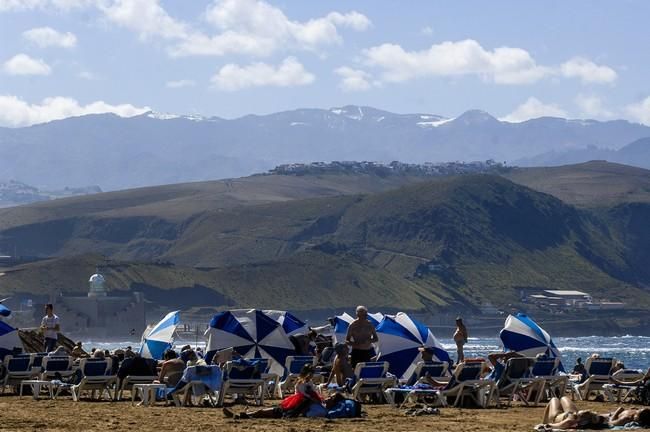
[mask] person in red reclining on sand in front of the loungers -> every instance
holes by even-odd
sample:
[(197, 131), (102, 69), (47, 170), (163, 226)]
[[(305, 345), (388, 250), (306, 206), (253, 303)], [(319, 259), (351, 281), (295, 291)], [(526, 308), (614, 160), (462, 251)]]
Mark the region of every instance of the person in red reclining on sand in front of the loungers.
[(235, 414), (228, 408), (223, 409), (223, 414), (228, 418), (251, 419), (251, 418), (283, 418), (299, 417), (309, 410), (312, 404), (321, 405), (322, 398), (316, 392), (316, 386), (312, 379), (314, 377), (314, 366), (306, 364), (300, 371), (296, 381), (296, 391), (280, 402), (280, 405), (271, 408), (262, 408), (257, 411)]

